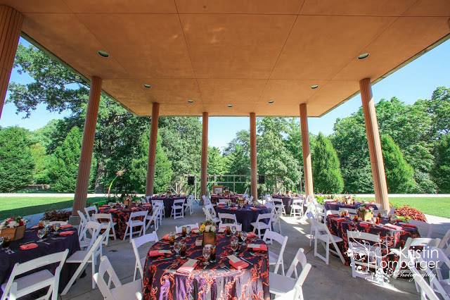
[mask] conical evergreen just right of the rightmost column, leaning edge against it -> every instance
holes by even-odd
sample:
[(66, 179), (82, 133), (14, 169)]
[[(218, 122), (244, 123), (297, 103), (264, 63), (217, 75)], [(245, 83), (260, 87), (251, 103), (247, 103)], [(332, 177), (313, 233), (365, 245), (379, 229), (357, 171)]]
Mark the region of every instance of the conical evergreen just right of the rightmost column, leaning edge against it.
[(414, 170), (406, 162), (399, 146), (389, 135), (381, 135), (380, 139), (385, 161), (387, 191), (392, 194), (414, 192), (417, 189)]

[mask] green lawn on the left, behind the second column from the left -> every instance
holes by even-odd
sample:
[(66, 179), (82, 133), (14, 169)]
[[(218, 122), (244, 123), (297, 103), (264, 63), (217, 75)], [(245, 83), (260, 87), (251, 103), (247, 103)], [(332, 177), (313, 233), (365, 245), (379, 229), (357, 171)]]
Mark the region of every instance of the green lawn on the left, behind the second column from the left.
[[(106, 197), (88, 198), (89, 204), (103, 201)], [(0, 220), (13, 215), (33, 215), (34, 213), (44, 213), (53, 209), (72, 207), (73, 199), (70, 197), (0, 197)]]

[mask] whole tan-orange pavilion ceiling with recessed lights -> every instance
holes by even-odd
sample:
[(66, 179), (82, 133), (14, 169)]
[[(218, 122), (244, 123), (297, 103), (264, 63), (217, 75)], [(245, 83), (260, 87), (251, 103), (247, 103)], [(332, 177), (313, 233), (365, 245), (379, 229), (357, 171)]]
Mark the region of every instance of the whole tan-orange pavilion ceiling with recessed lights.
[(137, 115), (156, 101), (161, 115), (293, 116), (307, 103), (320, 116), (362, 78), (380, 79), (450, 33), (449, 0), (0, 3), (23, 13), (25, 35), (103, 78), (103, 90)]

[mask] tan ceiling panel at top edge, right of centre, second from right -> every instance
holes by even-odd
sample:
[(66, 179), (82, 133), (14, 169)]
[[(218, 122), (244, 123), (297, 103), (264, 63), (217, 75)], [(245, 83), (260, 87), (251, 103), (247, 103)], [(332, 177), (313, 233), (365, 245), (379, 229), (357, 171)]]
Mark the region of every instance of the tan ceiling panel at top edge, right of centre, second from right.
[[(302, 15), (401, 15), (417, 0), (305, 0)], [(432, 0), (431, 0), (432, 1)]]

